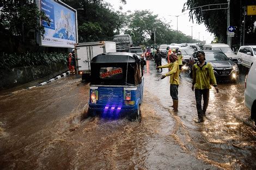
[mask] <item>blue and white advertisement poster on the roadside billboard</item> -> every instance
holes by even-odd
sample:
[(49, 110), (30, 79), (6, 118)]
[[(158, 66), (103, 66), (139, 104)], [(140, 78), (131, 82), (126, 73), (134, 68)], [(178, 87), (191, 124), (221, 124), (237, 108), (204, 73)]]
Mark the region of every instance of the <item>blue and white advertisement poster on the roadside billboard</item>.
[(41, 21), (45, 27), (41, 46), (74, 48), (76, 43), (76, 13), (53, 0), (40, 0), (40, 10), (51, 23)]

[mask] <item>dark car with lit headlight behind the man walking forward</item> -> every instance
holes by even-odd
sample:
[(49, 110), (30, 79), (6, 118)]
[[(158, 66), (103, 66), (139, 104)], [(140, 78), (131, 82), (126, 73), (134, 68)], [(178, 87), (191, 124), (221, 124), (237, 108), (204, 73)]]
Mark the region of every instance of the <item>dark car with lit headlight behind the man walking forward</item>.
[[(192, 77), (193, 65), (198, 61), (196, 58), (196, 53), (194, 52), (188, 62), (188, 69), (190, 71), (190, 76)], [(214, 68), (214, 75), (218, 80), (233, 80), (236, 81), (239, 76), (239, 68), (235, 62), (231, 61), (223, 52), (208, 50), (204, 51), (205, 61), (209, 62)]]

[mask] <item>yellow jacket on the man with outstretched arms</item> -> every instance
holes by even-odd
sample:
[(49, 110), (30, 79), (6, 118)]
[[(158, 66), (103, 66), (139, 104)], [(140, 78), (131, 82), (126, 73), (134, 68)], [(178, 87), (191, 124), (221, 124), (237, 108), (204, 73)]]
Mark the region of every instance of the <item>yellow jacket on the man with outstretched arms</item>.
[(171, 62), (170, 64), (159, 66), (159, 68), (170, 68), (170, 72), (166, 76), (170, 76), (170, 84), (179, 85), (179, 62)]

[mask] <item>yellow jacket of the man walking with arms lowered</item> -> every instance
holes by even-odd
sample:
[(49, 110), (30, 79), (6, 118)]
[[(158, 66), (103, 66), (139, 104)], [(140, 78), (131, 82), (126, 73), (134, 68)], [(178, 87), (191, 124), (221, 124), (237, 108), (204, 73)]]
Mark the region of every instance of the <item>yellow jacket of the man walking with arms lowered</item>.
[(194, 89), (211, 89), (211, 85), (217, 86), (214, 70), (210, 63), (199, 67), (198, 63), (193, 65)]

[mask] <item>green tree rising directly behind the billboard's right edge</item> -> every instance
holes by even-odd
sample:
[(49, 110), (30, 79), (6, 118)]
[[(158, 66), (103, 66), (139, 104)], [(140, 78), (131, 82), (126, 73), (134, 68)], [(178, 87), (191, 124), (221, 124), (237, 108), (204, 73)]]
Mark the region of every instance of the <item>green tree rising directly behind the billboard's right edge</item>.
[(80, 42), (113, 40), (115, 32), (125, 27), (123, 14), (111, 9), (111, 4), (95, 1), (63, 1), (77, 10), (78, 40)]

